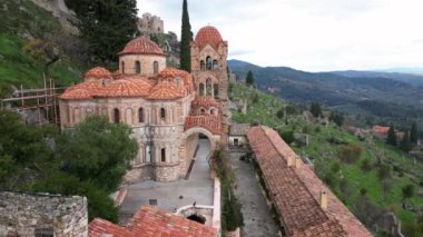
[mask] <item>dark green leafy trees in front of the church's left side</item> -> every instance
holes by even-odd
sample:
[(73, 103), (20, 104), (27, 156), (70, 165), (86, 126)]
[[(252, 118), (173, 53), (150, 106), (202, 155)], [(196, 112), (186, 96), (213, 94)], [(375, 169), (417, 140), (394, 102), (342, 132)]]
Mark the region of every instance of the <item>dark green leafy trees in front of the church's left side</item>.
[(117, 223), (109, 194), (137, 152), (130, 128), (89, 117), (75, 131), (60, 134), (1, 110), (0, 130), (0, 190), (86, 196), (90, 219)]

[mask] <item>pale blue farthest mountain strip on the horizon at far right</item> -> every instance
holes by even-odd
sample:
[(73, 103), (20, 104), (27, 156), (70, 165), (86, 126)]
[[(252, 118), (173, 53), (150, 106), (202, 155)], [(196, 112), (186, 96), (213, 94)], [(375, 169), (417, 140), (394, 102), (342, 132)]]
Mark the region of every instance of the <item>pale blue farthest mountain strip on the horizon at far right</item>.
[(384, 72), (384, 71), (331, 71), (331, 73), (336, 73), (344, 77), (351, 78), (388, 78), (392, 80), (397, 80), (406, 82), (413, 86), (423, 86), (423, 75), (411, 75), (411, 73), (400, 73), (400, 72)]

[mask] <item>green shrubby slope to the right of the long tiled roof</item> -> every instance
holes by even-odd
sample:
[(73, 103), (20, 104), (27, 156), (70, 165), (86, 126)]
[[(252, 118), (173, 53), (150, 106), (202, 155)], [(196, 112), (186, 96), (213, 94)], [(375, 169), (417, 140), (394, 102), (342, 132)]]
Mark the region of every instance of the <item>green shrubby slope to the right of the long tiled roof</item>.
[[(376, 219), (392, 211), (402, 221), (406, 236), (419, 236), (423, 228), (419, 213), (423, 205), (422, 161), (370, 132), (355, 136), (346, 131), (347, 126), (341, 128), (332, 122), (326, 126), (323, 119), (304, 116), (302, 111), (307, 108), (240, 83), (230, 86), (230, 99), (235, 103), (247, 102), (248, 107), (245, 115), (240, 106), (234, 108), (234, 121), (278, 130), (298, 155), (313, 162), (318, 177), (372, 231), (377, 231)], [(292, 111), (282, 116), (281, 109)], [(308, 146), (293, 134), (308, 135)]]

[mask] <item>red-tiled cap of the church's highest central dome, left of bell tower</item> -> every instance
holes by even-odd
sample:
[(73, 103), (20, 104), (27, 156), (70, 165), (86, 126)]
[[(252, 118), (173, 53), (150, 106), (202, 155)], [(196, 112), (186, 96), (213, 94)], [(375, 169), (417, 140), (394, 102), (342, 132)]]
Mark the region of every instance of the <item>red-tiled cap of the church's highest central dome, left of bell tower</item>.
[(144, 37), (139, 37), (137, 39), (134, 39), (129, 41), (125, 49), (118, 53), (119, 56), (122, 55), (157, 55), (157, 56), (165, 56), (163, 53), (160, 47), (157, 46), (154, 41), (146, 39)]

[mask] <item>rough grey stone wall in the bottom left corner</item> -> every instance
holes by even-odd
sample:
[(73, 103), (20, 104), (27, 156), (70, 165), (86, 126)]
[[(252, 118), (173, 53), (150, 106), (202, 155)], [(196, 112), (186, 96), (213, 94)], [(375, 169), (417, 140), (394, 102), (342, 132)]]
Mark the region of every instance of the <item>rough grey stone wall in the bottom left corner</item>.
[(0, 236), (51, 229), (56, 237), (88, 237), (87, 207), (85, 197), (0, 192)]

